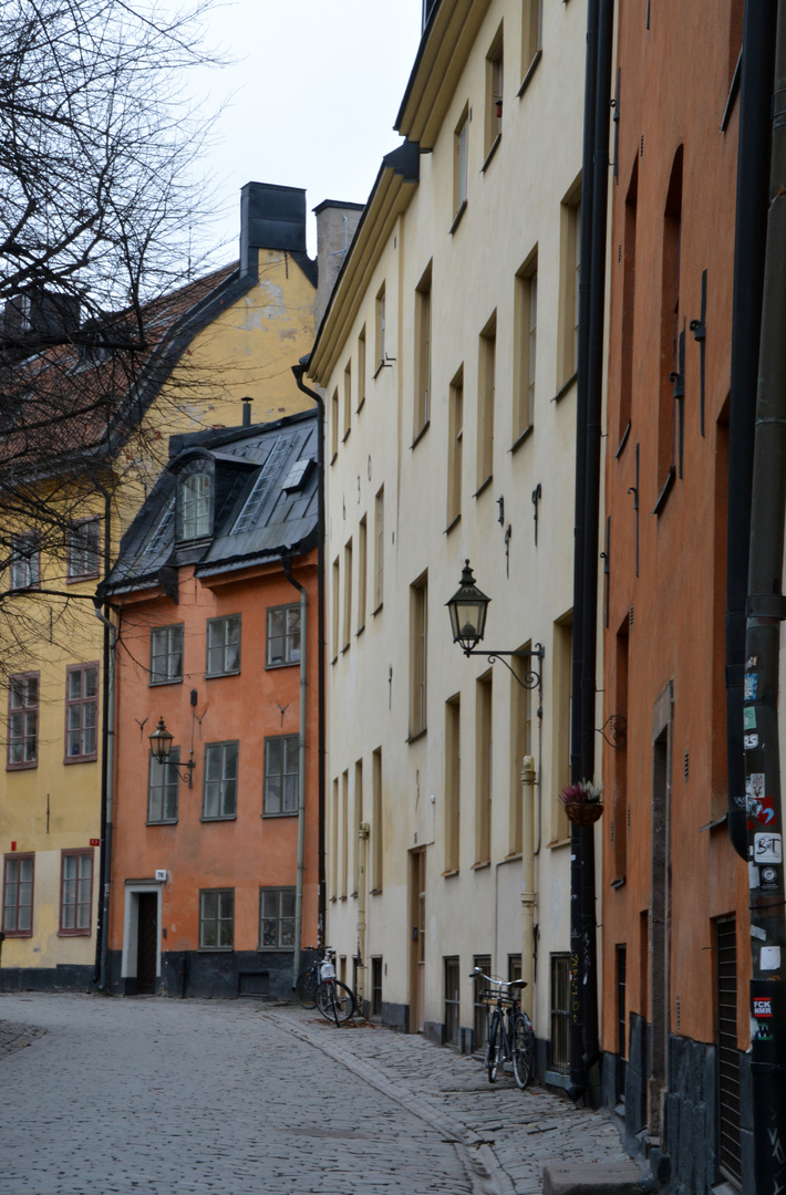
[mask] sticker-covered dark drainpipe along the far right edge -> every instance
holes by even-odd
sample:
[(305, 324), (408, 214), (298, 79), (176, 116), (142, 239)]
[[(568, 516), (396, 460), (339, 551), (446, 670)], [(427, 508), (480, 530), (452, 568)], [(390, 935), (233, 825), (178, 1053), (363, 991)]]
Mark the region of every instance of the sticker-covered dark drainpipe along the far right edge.
[[(751, 1077), (756, 1190), (786, 1185), (786, 924), (778, 685), (786, 513), (786, 0), (778, 2), (745, 636)], [(756, 804), (754, 804), (754, 801)], [(755, 1029), (754, 1029), (755, 1025)]]

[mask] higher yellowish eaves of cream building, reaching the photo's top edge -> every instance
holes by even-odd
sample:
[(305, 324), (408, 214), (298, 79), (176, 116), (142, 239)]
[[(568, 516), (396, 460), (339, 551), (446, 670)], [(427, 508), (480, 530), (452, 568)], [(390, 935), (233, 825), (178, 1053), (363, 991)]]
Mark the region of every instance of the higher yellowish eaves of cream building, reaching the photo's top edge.
[(394, 128), (433, 149), (491, 0), (441, 0), (420, 42)]

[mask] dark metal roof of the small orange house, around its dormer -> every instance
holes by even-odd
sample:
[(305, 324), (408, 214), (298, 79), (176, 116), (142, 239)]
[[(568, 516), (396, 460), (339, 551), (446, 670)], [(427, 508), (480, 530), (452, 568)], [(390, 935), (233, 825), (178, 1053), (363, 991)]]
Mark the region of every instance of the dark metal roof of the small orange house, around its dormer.
[[(162, 583), (162, 570), (194, 564), (197, 576), (304, 554), (317, 539), (317, 468), (285, 490), (295, 461), (317, 460), (317, 415), (304, 411), (274, 423), (170, 439), (169, 465), (123, 535), (103, 589), (129, 593)], [(201, 462), (213, 485), (213, 534), (176, 543), (176, 494), (183, 466)]]

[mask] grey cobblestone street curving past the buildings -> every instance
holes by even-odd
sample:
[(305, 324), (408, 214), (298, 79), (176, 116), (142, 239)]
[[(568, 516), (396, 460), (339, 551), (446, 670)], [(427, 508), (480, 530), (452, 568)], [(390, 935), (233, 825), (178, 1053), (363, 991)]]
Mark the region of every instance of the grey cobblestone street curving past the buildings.
[(530, 1195), (624, 1157), (477, 1059), (250, 1001), (2, 995), (0, 1083), (4, 1195)]

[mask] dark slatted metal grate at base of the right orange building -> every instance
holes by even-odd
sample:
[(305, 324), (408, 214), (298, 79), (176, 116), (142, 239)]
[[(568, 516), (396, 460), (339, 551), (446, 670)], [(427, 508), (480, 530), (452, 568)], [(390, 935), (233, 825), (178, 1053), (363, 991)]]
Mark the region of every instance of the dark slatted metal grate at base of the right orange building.
[(715, 921), (718, 1000), (718, 1136), (720, 1169), (742, 1182), (737, 1050), (737, 923)]

